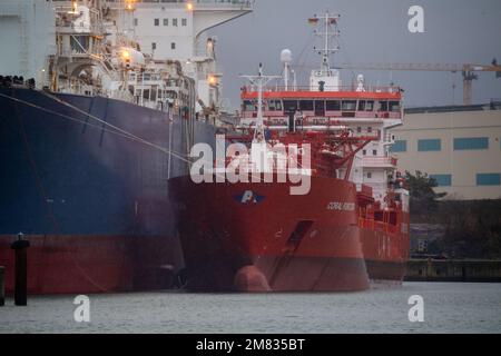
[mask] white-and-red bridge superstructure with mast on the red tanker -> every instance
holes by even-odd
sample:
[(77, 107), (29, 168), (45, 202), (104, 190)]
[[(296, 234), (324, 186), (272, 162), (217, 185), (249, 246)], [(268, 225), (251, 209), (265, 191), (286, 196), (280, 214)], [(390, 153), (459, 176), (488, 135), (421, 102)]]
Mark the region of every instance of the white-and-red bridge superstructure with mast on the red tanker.
[[(316, 34), (323, 39), (323, 48), (315, 51), (322, 56), (318, 70), (311, 72), (307, 87), (291, 87), (289, 77), (292, 53), (284, 50), (281, 60), (284, 63), (284, 86), (273, 85), (264, 91), (263, 108), (257, 103), (256, 86), (244, 88), (242, 92), (243, 127), (258, 126), (261, 111), (267, 129), (287, 130), (289, 115), (294, 115), (294, 127), (312, 131), (350, 130), (353, 137), (362, 137), (370, 142), (356, 152), (353, 166), (336, 171), (338, 178), (356, 184), (358, 191), (363, 186), (372, 188), (374, 199), (384, 207), (389, 191), (400, 188), (396, 175), (396, 158), (391, 156), (394, 144), (392, 129), (403, 123), (403, 98), (397, 87), (373, 87), (364, 82), (363, 76), (356, 81), (342, 85), (340, 71), (330, 63), (330, 55), (338, 50), (332, 47), (337, 37), (340, 16), (326, 13), (310, 19), (317, 26)], [(344, 152), (340, 152), (341, 156)], [(400, 189), (407, 198), (407, 194)]]

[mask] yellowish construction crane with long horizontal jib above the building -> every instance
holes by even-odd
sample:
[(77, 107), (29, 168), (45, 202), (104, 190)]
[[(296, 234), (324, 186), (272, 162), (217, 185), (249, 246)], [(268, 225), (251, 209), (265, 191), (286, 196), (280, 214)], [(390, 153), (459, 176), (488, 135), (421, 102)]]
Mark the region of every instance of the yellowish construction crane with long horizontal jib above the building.
[(471, 105), (472, 99), (472, 82), (479, 79), (477, 72), (492, 71), (495, 72), (495, 78), (501, 78), (501, 66), (494, 58), (490, 66), (483, 65), (453, 65), (453, 63), (366, 63), (366, 65), (343, 65), (340, 69), (350, 70), (420, 70), (420, 71), (450, 71), (463, 75), (463, 103)]

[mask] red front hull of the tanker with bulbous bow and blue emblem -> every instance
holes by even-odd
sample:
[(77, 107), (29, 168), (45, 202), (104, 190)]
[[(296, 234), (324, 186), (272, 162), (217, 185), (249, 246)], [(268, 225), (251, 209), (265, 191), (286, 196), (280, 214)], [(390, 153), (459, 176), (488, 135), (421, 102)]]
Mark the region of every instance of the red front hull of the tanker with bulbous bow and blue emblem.
[[(171, 179), (188, 288), (202, 291), (340, 291), (369, 288), (348, 181), (193, 184)], [(246, 200), (245, 195), (254, 200)], [(348, 210), (330, 210), (332, 202)]]

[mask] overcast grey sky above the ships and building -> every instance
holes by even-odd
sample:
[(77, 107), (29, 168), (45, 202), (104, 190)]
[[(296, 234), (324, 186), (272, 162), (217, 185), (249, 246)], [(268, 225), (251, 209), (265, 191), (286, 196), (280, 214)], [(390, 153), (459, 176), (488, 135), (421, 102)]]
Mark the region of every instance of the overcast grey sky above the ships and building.
[[(424, 33), (407, 28), (411, 6), (424, 10)], [(239, 106), (239, 75), (255, 73), (259, 62), (265, 73), (279, 75), (279, 53), (293, 52), (298, 85), (320, 68), (313, 47), (313, 27), (307, 18), (328, 10), (340, 13), (341, 51), (333, 66), (356, 63), (501, 63), (501, 0), (256, 0), (253, 13), (209, 31), (217, 38), (217, 59), (224, 73), (225, 105)], [(405, 90), (405, 106), (461, 105), (461, 72), (342, 71), (344, 83), (363, 73), (369, 85), (394, 82)], [(455, 89), (453, 87), (455, 86)], [(473, 81), (473, 103), (501, 98), (501, 78), (480, 72)]]

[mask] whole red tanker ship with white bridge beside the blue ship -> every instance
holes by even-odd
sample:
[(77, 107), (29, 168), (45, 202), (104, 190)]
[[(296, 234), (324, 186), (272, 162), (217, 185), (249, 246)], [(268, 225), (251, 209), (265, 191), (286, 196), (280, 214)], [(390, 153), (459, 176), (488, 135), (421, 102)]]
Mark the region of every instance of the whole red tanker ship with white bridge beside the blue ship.
[[(367, 87), (362, 76), (342, 86), (328, 62), (337, 20), (328, 13), (310, 20), (325, 26), (326, 46), (308, 88), (289, 86), (284, 50), (284, 88), (265, 88), (276, 77), (261, 70), (247, 77), (242, 134), (226, 137), (240, 149), (229, 146), (225, 165), (205, 171), (203, 182), (193, 176), (169, 181), (188, 288), (336, 291), (402, 281), (409, 194), (389, 152), (389, 130), (402, 125), (402, 91)], [(228, 171), (239, 180), (218, 179)], [(292, 194), (303, 180), (307, 191)]]

